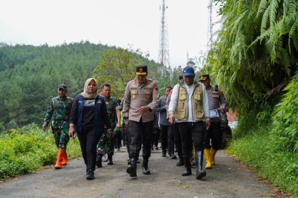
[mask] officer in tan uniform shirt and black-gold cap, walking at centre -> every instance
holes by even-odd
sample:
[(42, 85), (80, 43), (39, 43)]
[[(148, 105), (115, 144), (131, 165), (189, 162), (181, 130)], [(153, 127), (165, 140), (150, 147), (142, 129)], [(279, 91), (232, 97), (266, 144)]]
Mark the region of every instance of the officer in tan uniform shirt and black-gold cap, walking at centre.
[(126, 170), (131, 177), (137, 177), (137, 159), (142, 145), (143, 174), (150, 174), (148, 161), (153, 135), (153, 108), (159, 101), (157, 84), (147, 79), (147, 65), (137, 65), (135, 73), (137, 79), (131, 80), (126, 86), (122, 112), (131, 137), (130, 166)]

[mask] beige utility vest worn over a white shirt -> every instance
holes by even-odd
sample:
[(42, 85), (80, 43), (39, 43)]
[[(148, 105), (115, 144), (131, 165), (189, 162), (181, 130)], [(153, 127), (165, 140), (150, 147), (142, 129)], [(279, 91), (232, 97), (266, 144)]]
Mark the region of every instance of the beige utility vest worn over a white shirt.
[[(188, 121), (188, 95), (185, 84), (178, 84), (178, 98), (177, 106), (175, 109), (176, 121)], [(201, 121), (204, 119), (203, 111), (203, 93), (202, 86), (199, 83), (195, 83), (195, 90), (191, 96), (192, 115), (194, 121)]]

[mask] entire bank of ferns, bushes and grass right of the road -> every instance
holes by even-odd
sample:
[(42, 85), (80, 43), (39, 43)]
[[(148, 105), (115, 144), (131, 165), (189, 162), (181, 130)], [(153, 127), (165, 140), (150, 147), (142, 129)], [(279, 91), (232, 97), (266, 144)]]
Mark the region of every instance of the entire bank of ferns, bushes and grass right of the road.
[(226, 151), (298, 196), (298, 1), (214, 0), (209, 73), (238, 119)]

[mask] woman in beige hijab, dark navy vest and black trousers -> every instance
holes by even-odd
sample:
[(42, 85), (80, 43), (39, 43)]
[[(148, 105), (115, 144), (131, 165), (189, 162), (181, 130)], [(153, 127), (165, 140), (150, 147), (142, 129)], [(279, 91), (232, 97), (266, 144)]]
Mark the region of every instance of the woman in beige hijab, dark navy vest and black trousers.
[(97, 81), (89, 78), (85, 82), (84, 92), (76, 96), (73, 102), (70, 119), (69, 136), (75, 132), (79, 140), (84, 162), (86, 164), (86, 179), (94, 179), (96, 145), (107, 128), (108, 135), (112, 134), (106, 103), (97, 94)]

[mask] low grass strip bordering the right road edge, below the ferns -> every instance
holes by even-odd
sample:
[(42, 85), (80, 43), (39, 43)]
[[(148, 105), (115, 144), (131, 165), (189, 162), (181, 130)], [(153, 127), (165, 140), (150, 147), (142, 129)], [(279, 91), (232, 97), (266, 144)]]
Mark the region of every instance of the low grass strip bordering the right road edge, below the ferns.
[(268, 127), (244, 136), (235, 134), (226, 152), (235, 154), (273, 185), (298, 196), (298, 153), (279, 151), (268, 135)]

